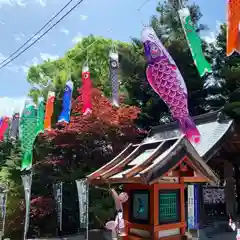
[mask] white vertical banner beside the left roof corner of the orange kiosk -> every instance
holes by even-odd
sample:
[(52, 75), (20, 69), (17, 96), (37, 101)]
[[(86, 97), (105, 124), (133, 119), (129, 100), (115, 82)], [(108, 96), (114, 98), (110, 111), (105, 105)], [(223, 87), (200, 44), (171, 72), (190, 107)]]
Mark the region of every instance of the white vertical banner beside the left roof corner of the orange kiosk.
[(88, 228), (88, 182), (76, 180), (79, 202), (80, 228)]

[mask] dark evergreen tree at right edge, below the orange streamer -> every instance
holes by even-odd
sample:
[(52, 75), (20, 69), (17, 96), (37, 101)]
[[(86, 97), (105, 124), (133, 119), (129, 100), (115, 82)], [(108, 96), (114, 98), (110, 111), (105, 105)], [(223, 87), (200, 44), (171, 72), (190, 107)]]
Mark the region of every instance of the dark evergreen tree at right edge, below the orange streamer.
[(228, 115), (240, 120), (240, 59), (237, 53), (226, 56), (226, 30), (226, 24), (222, 24), (211, 46), (214, 72), (208, 82), (207, 104), (210, 109), (224, 107)]

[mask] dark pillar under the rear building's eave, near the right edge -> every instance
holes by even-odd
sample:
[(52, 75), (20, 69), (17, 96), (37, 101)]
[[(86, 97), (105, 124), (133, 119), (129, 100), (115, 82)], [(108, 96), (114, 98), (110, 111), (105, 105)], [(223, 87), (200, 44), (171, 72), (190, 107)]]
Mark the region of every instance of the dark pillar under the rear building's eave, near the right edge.
[(236, 180), (234, 178), (234, 166), (229, 161), (224, 161), (224, 180), (225, 180), (225, 201), (226, 213), (234, 219), (236, 216)]

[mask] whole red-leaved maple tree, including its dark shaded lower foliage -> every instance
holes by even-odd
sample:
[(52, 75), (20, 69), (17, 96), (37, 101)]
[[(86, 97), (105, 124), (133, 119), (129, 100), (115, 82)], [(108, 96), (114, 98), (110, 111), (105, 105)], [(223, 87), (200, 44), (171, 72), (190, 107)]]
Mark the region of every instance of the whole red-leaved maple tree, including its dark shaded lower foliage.
[[(100, 90), (93, 88), (92, 113), (83, 115), (81, 89), (78, 91), (79, 97), (72, 101), (70, 123), (57, 124), (52, 131), (40, 135), (35, 144), (32, 193), (40, 196), (32, 199), (30, 215), (35, 227), (36, 218), (41, 225), (43, 219), (53, 212), (54, 205), (46, 205), (46, 202), (53, 195), (52, 183), (62, 181), (65, 191), (69, 191), (64, 193), (63, 208), (65, 212), (68, 209), (64, 228), (70, 229), (75, 224), (73, 219), (78, 222), (75, 180), (101, 167), (128, 143), (139, 142), (145, 136), (134, 123), (140, 113), (137, 107), (124, 103), (119, 108), (113, 107)], [(66, 184), (70, 185), (66, 187)], [(70, 191), (71, 186), (73, 189)], [(44, 194), (40, 193), (42, 188), (45, 189)], [(98, 198), (101, 202), (101, 194)]]

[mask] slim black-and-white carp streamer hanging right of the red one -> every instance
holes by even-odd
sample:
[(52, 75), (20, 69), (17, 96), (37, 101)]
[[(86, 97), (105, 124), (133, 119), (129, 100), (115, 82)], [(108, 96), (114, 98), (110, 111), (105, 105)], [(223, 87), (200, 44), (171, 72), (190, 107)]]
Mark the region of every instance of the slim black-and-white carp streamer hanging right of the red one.
[(112, 83), (112, 104), (118, 107), (119, 106), (119, 82), (118, 82), (119, 60), (118, 60), (118, 52), (113, 49), (111, 49), (109, 52), (109, 69), (110, 69), (110, 80)]

